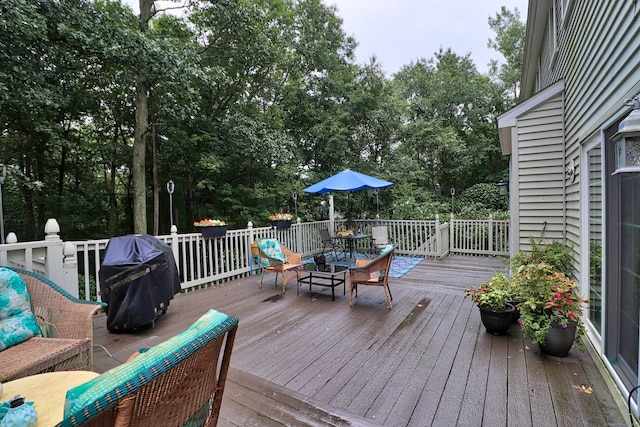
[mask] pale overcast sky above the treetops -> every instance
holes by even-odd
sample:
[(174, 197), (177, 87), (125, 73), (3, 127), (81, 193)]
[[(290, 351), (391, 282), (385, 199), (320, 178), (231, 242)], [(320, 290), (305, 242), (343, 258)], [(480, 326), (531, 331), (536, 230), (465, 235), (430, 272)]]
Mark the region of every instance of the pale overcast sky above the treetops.
[[(418, 58), (432, 58), (442, 47), (457, 55), (471, 54), (482, 73), (490, 59), (504, 58), (487, 42), (495, 38), (489, 16), (500, 6), (520, 11), (526, 22), (528, 0), (322, 0), (338, 8), (343, 29), (358, 41), (357, 62), (368, 63), (375, 55), (390, 76)], [(139, 0), (123, 0), (138, 13)], [(175, 3), (157, 1), (163, 4)]]

